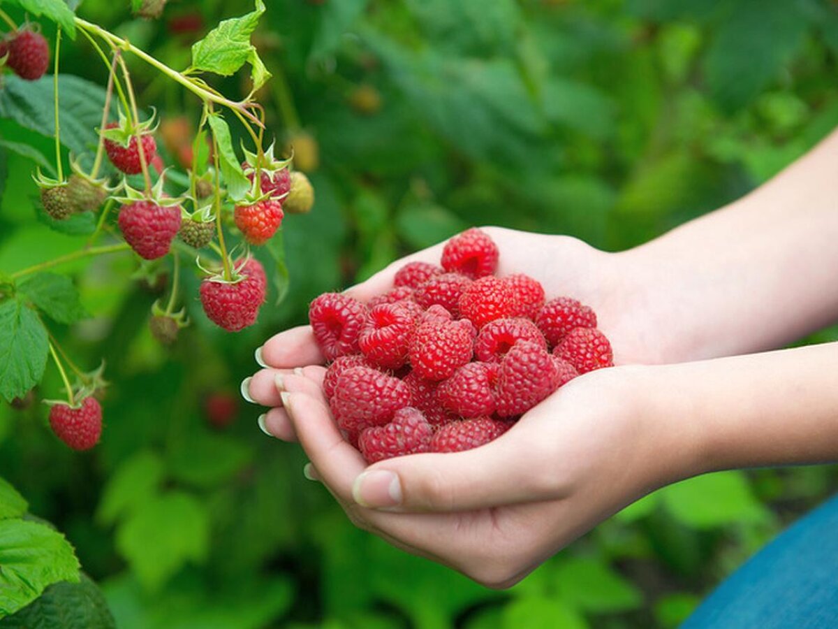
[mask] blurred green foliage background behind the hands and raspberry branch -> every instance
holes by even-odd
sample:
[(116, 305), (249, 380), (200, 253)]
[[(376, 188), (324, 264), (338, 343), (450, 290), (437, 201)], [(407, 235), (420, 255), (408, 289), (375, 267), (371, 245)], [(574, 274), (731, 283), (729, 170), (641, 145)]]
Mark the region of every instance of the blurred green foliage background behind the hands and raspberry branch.
[[(173, 67), (188, 65), (189, 45), (220, 18), (252, 10), (241, 0), (172, 0), (147, 22), (129, 5), (85, 0), (79, 14)], [(224, 425), (207, 411), (210, 393), (238, 399), (256, 346), (303, 322), (314, 296), (465, 226), (566, 233), (619, 250), (752, 190), (838, 125), (835, 3), (267, 5), (255, 43), (275, 75), (260, 95), (268, 128), (279, 143), (294, 141), (317, 190), (313, 213), (283, 225), (282, 304), (226, 335), (189, 298), (194, 325), (167, 351), (147, 330), (160, 293), (132, 280), (133, 257), (65, 267), (94, 316), (54, 330), (85, 366), (106, 359), (102, 443), (72, 454), (49, 432), (43, 405), (0, 405), (0, 476), (66, 533), (118, 626), (673, 627), (835, 491), (834, 466), (686, 481), (496, 592), (355, 530), (303, 479), (299, 449), (261, 434), (257, 408), (237, 402)], [(131, 67), (142, 106), (194, 128), (199, 101)], [(106, 82), (83, 39), (65, 42), (62, 69)], [(238, 76), (214, 85), (236, 97), (248, 90)], [(0, 138), (50, 154), (49, 138), (18, 122), (0, 120)], [(5, 272), (84, 242), (36, 221), (33, 168), (0, 146)], [(194, 295), (199, 277), (187, 280)], [(825, 330), (810, 340), (835, 339)], [(58, 390), (50, 367), (39, 396)]]

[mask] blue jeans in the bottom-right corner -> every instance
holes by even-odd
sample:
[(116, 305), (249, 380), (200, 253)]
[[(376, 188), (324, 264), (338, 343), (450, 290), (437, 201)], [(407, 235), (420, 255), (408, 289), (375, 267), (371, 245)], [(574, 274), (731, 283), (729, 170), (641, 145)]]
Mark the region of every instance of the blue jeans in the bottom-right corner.
[(680, 629), (838, 627), (838, 496), (780, 534)]

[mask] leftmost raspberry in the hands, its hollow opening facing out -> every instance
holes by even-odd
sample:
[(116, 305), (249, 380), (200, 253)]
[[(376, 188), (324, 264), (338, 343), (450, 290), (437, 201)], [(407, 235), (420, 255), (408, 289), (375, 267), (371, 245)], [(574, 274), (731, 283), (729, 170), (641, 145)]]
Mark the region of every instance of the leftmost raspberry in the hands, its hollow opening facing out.
[(327, 361), (360, 351), (358, 335), (366, 316), (366, 306), (348, 295), (324, 293), (314, 299), (308, 307), (308, 321)]

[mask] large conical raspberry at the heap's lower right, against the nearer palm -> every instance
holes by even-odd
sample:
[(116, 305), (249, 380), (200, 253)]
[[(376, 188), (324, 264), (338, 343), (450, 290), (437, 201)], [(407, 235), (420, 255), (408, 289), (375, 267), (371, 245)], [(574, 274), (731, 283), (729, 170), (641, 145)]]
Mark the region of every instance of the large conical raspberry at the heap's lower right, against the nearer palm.
[(526, 413), (556, 391), (558, 367), (547, 351), (521, 340), (500, 361), (497, 403), (500, 417)]

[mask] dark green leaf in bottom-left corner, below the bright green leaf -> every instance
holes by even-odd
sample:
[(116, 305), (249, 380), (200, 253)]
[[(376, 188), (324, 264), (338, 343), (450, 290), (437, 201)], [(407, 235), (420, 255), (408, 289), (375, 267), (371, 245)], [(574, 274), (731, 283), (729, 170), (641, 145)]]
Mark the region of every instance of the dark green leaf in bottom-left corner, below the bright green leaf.
[(79, 583), (55, 583), (29, 604), (3, 621), (3, 629), (116, 629), (101, 590), (81, 574)]

